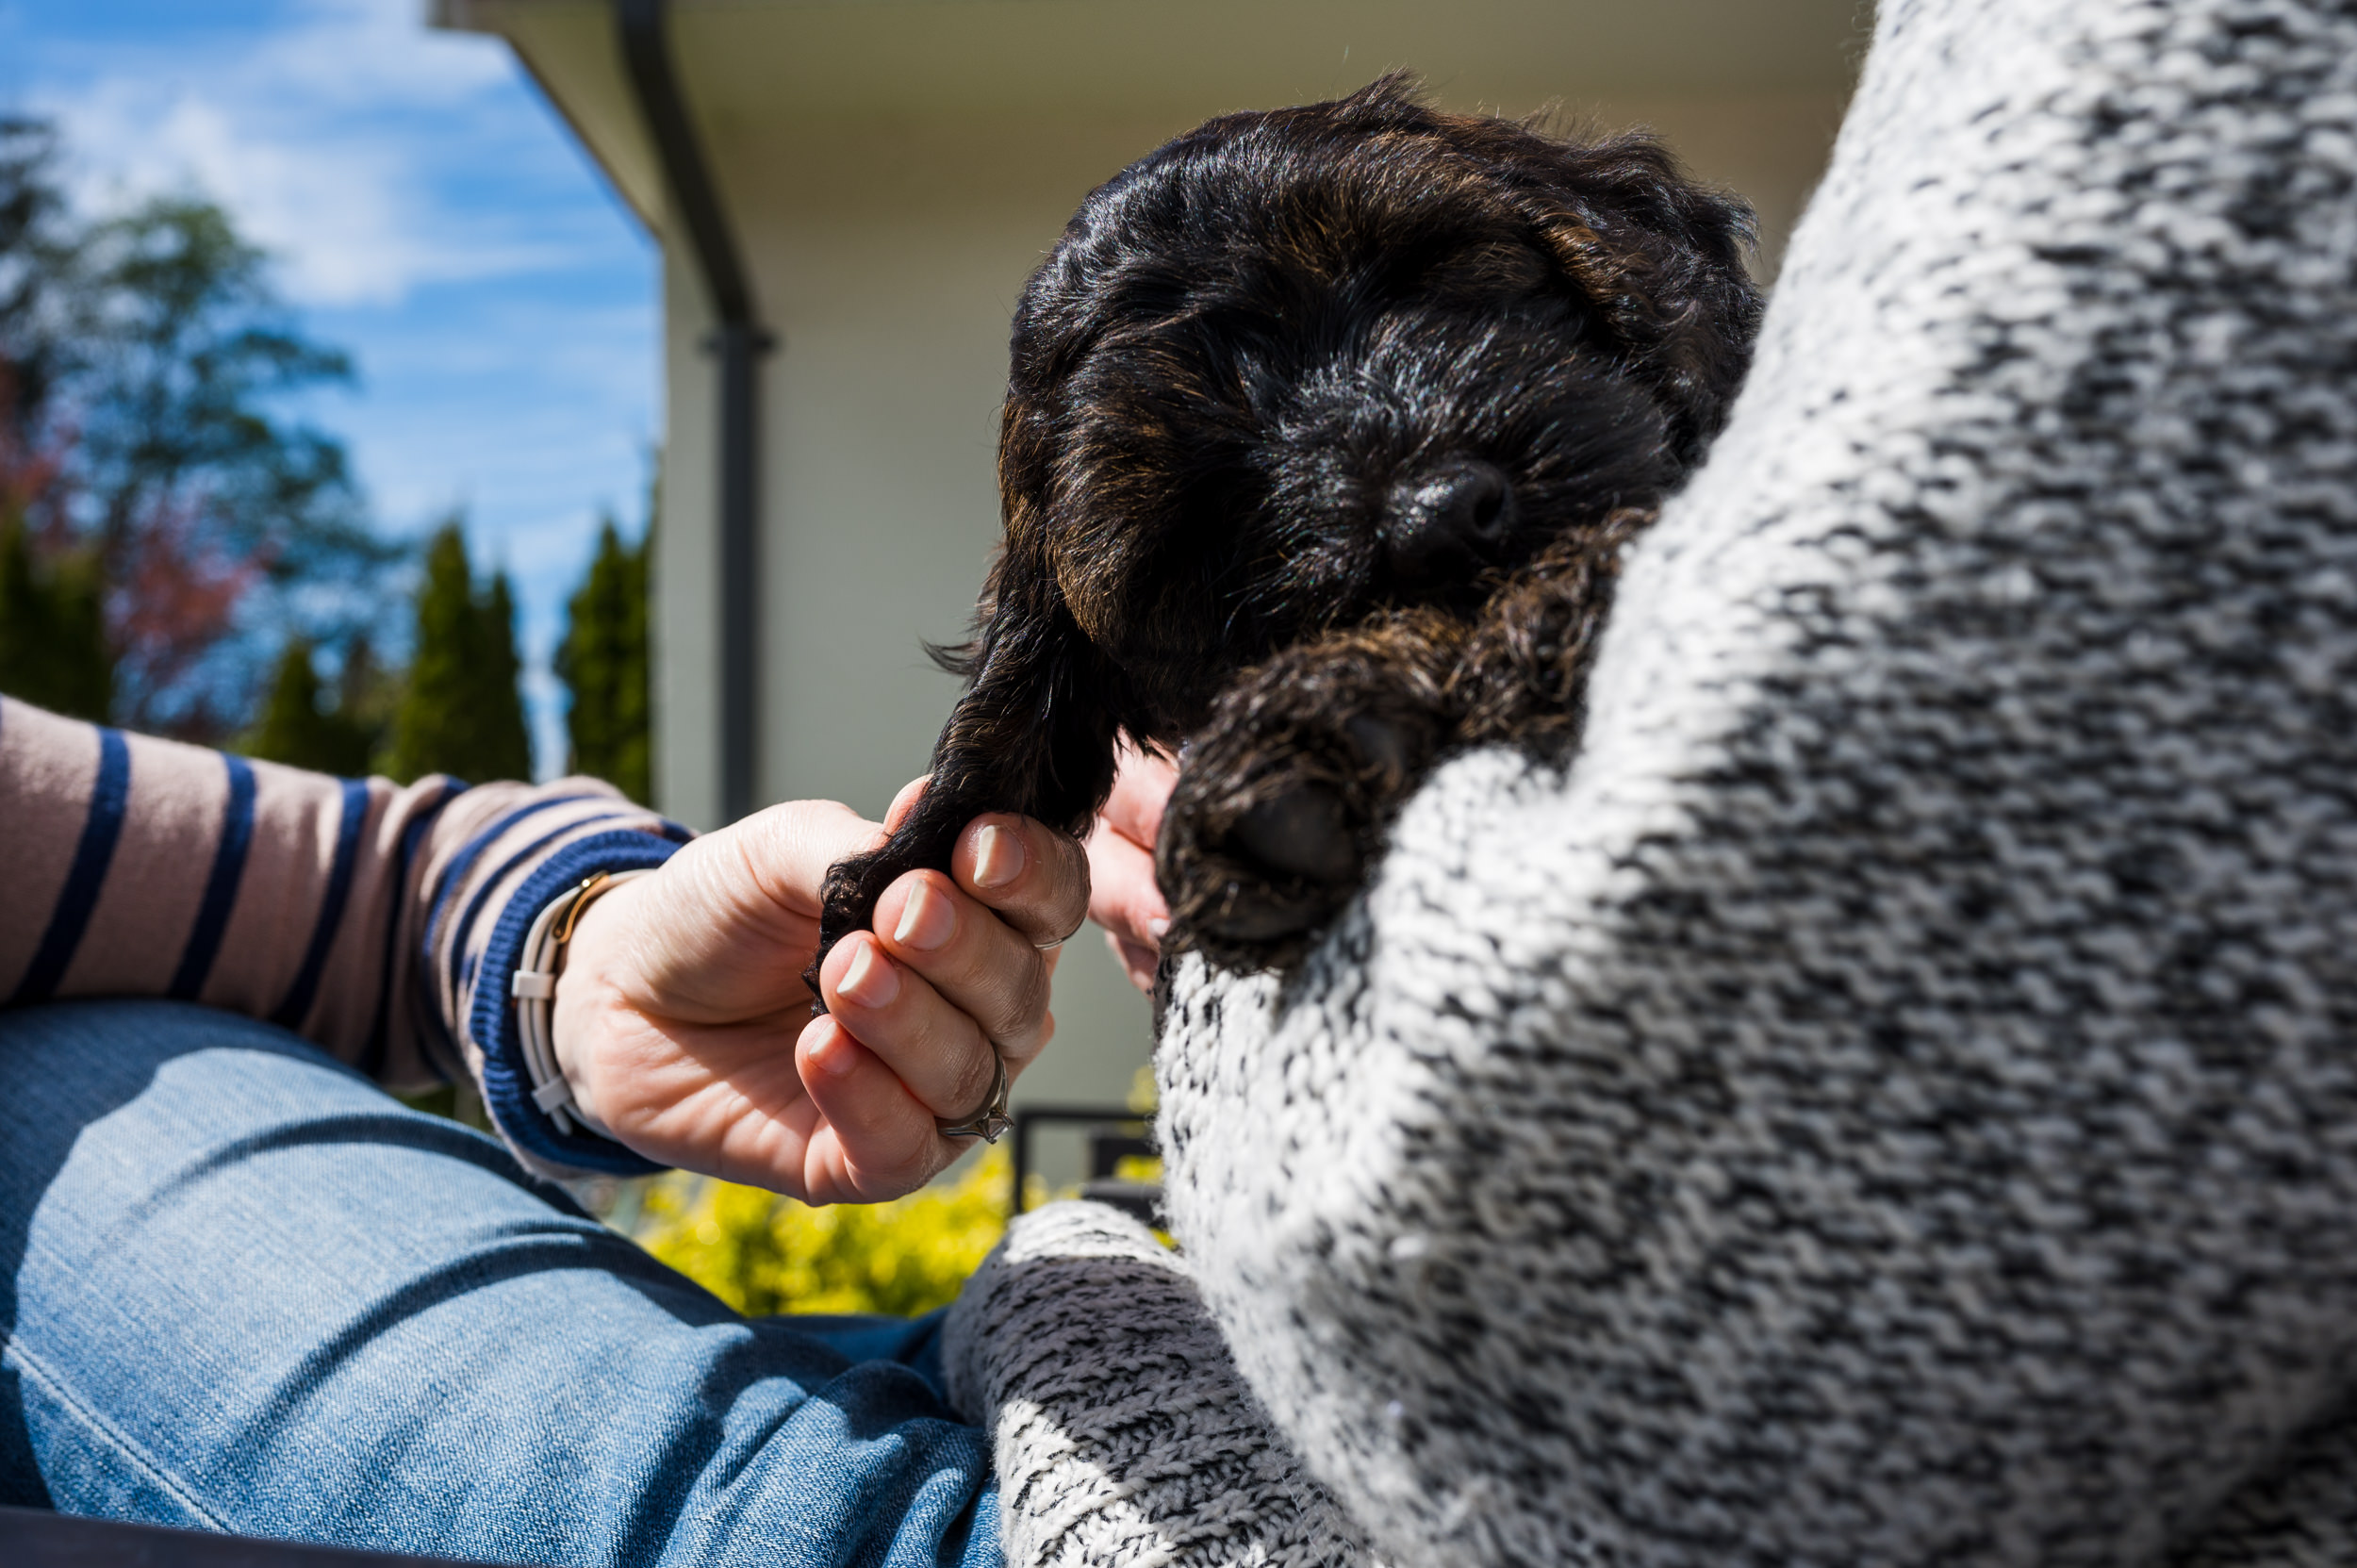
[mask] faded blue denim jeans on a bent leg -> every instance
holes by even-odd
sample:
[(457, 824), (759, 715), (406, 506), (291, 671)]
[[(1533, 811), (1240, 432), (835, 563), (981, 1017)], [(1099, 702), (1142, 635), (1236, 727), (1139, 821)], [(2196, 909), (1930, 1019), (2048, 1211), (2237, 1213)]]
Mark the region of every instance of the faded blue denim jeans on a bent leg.
[(931, 1320), (745, 1320), (264, 1023), (0, 1012), (0, 1502), (530, 1563), (995, 1568)]

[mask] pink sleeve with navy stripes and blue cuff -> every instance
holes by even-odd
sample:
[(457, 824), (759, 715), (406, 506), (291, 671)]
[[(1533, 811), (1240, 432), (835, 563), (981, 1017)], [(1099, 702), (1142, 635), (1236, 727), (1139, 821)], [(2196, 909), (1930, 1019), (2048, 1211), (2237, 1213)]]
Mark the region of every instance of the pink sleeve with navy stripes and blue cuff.
[(474, 1078), (540, 1170), (651, 1170), (530, 1103), (507, 986), (552, 898), (686, 837), (592, 778), (330, 778), (0, 698), (0, 1004), (224, 1007), (389, 1087)]

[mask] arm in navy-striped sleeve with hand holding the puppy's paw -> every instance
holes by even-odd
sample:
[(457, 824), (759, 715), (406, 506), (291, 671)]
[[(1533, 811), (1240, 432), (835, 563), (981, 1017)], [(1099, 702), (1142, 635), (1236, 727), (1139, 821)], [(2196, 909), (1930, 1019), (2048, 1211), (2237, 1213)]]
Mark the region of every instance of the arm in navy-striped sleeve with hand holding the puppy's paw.
[(1087, 868), (1037, 823), (973, 823), (952, 877), (893, 884), (891, 931), (841, 946), (834, 1019), (811, 1021), (797, 976), (818, 882), (879, 832), (841, 806), (775, 806), (589, 905), (556, 1047), (603, 1139), (533, 1103), (511, 974), (542, 908), (596, 872), (667, 865), (684, 828), (589, 778), (330, 778), (0, 698), (0, 1004), (179, 997), (391, 1087), (464, 1075), (542, 1172), (660, 1160), (886, 1198), (964, 1148), (931, 1118), (973, 1111), (992, 1049), (1018, 1073), (1047, 1042), (1037, 943), (1080, 924)]

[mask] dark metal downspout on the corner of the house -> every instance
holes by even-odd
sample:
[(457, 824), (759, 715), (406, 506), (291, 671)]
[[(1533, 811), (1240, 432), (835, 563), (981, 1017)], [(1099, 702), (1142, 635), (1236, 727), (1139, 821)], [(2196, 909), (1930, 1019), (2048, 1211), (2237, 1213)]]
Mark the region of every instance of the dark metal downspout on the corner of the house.
[[(662, 163), (665, 207), (676, 226), (686, 226), (702, 274), (705, 295), (719, 321), (709, 349), (719, 356), (719, 500), (721, 500), (721, 818), (738, 821), (754, 809), (754, 771), (759, 764), (759, 391), (761, 354), (771, 335), (752, 309), (745, 264), (735, 248), (719, 189), (705, 165), (695, 127), (688, 125), (679, 75), (672, 71), (672, 42), (665, 31), (665, 0), (615, 0), (615, 31), (622, 66), (639, 97), (639, 113)], [(676, 238), (676, 226), (674, 236)]]

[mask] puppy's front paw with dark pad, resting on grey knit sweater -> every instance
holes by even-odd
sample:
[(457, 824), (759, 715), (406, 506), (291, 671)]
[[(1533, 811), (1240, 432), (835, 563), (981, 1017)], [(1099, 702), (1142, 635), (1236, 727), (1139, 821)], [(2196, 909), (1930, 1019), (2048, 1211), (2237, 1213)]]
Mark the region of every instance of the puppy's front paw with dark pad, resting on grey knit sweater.
[(1447, 736), (1440, 684), (1417, 653), (1386, 637), (1315, 644), (1219, 700), (1155, 846), (1167, 946), (1273, 969), (1351, 901)]

